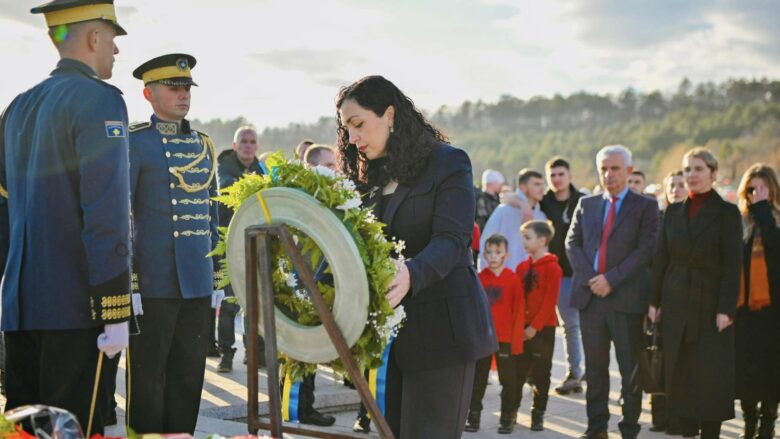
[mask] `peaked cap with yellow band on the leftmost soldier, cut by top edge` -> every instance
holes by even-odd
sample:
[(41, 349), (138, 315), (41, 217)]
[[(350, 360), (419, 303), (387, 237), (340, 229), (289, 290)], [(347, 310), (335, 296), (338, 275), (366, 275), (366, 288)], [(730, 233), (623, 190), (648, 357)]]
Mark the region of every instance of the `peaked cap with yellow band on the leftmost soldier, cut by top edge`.
[(43, 14), (49, 27), (104, 20), (114, 25), (117, 35), (127, 35), (117, 22), (114, 0), (52, 0), (30, 9), (30, 12)]

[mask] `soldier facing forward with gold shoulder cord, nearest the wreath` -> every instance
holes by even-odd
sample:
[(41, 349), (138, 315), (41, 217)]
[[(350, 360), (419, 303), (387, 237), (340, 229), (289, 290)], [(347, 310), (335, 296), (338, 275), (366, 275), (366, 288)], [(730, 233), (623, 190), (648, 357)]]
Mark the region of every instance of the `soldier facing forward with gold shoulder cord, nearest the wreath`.
[[(154, 114), (130, 126), (134, 305), (128, 425), (136, 433), (195, 431), (219, 273), (214, 143), (192, 130), (195, 58), (163, 55), (133, 71)], [(135, 291), (137, 288), (137, 291)]]

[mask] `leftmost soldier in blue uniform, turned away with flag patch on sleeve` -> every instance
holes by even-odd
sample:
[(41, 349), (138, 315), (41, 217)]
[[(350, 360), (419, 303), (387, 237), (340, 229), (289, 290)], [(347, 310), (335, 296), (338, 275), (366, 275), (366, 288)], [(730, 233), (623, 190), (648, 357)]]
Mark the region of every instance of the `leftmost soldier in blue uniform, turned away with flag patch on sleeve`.
[[(126, 32), (110, 0), (31, 12), (60, 61), (0, 117), (5, 409), (61, 407), (86, 432), (98, 359), (127, 346), (131, 315), (127, 108), (104, 82)], [(102, 434), (99, 405), (91, 422)]]

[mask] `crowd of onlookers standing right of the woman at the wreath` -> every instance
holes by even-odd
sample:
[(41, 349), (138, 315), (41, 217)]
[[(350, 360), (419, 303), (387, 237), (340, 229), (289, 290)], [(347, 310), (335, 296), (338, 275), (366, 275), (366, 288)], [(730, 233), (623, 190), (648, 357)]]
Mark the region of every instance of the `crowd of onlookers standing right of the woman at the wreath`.
[[(544, 335), (560, 321), (568, 371), (555, 391), (579, 392), (587, 382), (583, 437), (607, 437), (612, 346), (621, 375), (620, 432), (639, 433), (635, 379), (648, 323), (660, 328), (664, 352), (665, 392), (651, 396), (652, 431), (717, 438), (739, 399), (744, 437), (773, 437), (780, 396), (777, 171), (751, 166), (735, 205), (718, 193), (718, 161), (706, 148), (685, 154), (681, 169), (664, 179), (660, 199), (645, 194), (646, 176), (633, 168), (628, 148), (604, 147), (595, 160), (601, 193), (591, 196), (575, 188), (561, 157), (545, 166), (544, 195), (537, 171), (520, 170), (516, 190), (498, 171), (482, 175), (475, 222), (480, 280), (499, 340), (498, 433), (516, 424), (528, 363), (530, 428), (544, 428), (555, 342)], [(536, 252), (539, 240), (549, 256)], [(550, 258), (556, 273), (543, 268)], [(491, 357), (477, 362), (466, 431), (480, 428)]]

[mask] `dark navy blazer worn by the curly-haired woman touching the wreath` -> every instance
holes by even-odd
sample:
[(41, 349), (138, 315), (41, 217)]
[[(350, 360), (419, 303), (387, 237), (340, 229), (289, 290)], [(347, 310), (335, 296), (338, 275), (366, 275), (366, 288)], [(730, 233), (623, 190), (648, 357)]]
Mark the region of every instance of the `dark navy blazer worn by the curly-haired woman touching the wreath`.
[[(381, 192), (374, 190), (365, 204), (378, 206)], [(490, 308), (471, 256), (474, 187), (468, 155), (438, 144), (417, 181), (399, 184), (382, 210), (387, 235), (406, 243), (412, 284), (401, 302), (407, 319), (395, 341), (398, 365), (435, 369), (495, 352)]]

